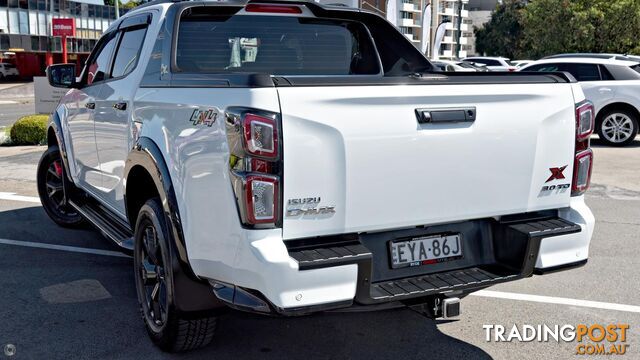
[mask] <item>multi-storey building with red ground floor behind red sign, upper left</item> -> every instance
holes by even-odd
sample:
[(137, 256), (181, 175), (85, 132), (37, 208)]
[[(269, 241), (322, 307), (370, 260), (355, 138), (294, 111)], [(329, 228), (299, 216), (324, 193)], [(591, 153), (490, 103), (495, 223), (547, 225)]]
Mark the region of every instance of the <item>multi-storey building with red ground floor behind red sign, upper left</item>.
[[(52, 18), (73, 18), (76, 36), (67, 38), (69, 62), (78, 68), (116, 18), (102, 0), (0, 0), (0, 59), (14, 63), (20, 76), (44, 74), (47, 64), (62, 62), (62, 42), (51, 36)], [(122, 12), (121, 12), (122, 13)]]

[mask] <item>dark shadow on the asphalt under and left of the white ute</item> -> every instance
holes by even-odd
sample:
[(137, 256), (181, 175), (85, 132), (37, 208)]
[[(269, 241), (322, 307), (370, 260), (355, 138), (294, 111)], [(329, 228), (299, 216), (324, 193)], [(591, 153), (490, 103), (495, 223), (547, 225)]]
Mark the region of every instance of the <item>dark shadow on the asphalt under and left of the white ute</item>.
[[(57, 227), (40, 207), (1, 211), (0, 238), (108, 244), (94, 231)], [(409, 309), (297, 318), (229, 312), (209, 347), (165, 354), (153, 347), (142, 325), (130, 259), (1, 244), (0, 258), (0, 346), (16, 345), (20, 358), (490, 358)], [(77, 303), (51, 303), (42, 296), (43, 288), (79, 280), (99, 284), (109, 296)]]

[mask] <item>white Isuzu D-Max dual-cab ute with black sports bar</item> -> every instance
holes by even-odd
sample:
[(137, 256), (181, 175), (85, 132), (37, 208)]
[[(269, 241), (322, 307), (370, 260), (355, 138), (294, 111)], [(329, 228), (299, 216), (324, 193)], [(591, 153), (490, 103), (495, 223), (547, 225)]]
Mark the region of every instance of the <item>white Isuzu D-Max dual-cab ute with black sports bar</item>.
[(593, 106), (564, 73), (440, 73), (385, 19), (313, 2), (152, 2), (51, 116), (38, 190), (133, 254), (162, 349), (221, 311), (459, 313), (587, 261)]

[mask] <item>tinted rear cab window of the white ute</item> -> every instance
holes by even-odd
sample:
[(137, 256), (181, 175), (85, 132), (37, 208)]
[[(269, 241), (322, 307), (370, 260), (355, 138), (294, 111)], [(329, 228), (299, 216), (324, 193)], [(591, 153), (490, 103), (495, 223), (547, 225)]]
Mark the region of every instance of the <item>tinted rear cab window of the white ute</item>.
[(344, 76), (382, 69), (371, 35), (357, 21), (187, 9), (174, 71)]

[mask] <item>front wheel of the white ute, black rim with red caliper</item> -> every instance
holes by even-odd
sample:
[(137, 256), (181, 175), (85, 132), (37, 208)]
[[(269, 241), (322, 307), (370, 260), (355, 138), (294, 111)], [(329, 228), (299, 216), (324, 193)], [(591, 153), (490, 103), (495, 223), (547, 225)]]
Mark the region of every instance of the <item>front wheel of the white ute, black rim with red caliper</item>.
[(64, 227), (79, 227), (84, 223), (82, 215), (71, 205), (64, 203), (62, 179), (65, 176), (58, 147), (49, 147), (40, 158), (36, 175), (40, 202), (44, 211), (56, 224)]

